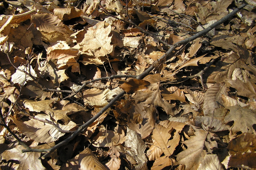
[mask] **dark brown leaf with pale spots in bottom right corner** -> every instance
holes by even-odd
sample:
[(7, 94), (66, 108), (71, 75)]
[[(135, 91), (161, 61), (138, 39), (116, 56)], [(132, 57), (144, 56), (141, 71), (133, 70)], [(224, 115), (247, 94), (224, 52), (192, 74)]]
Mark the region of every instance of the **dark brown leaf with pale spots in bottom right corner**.
[(251, 133), (243, 133), (229, 142), (227, 156), (222, 164), (228, 167), (236, 167), (243, 169), (255, 169), (256, 159), (256, 136)]

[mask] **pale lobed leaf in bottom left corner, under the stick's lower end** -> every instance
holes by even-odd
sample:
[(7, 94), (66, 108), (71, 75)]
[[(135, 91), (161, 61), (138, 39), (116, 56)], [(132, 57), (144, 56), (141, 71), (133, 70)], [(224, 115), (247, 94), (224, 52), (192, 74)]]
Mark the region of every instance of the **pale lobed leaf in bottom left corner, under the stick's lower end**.
[(5, 150), (1, 154), (1, 159), (8, 160), (18, 160), (19, 161), (19, 167), (20, 170), (27, 170), (27, 169), (38, 169), (38, 170), (46, 170), (46, 168), (42, 165), (42, 162), (40, 159), (40, 153), (39, 152), (25, 152), (22, 153), (21, 150), (26, 149), (22, 145), (17, 145), (12, 149)]

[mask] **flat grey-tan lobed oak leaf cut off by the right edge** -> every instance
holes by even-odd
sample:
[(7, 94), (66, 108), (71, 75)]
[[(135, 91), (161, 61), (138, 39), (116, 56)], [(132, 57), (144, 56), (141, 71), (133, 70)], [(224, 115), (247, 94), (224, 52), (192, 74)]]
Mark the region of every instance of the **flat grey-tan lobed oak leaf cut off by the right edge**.
[(229, 114), (225, 116), (224, 122), (228, 123), (234, 121), (230, 131), (232, 134), (241, 131), (244, 132), (254, 132), (252, 125), (256, 122), (256, 113), (251, 109), (244, 109), (238, 105), (227, 107), (229, 109)]

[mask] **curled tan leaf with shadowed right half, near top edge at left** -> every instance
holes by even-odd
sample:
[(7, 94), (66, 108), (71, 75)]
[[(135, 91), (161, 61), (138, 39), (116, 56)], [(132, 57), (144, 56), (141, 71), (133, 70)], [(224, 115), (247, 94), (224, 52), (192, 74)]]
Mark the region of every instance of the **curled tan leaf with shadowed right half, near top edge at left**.
[(60, 20), (70, 20), (75, 17), (79, 17), (82, 13), (81, 9), (74, 8), (55, 8), (53, 14), (58, 16)]

